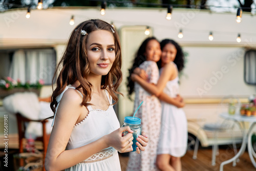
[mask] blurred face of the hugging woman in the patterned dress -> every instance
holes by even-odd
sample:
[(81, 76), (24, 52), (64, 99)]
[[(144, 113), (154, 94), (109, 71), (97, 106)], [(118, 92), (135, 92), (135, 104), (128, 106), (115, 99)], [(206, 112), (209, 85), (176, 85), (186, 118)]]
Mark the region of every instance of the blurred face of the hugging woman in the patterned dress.
[(161, 47), (157, 40), (150, 40), (147, 42), (146, 51), (144, 53), (146, 60), (157, 62), (161, 57)]

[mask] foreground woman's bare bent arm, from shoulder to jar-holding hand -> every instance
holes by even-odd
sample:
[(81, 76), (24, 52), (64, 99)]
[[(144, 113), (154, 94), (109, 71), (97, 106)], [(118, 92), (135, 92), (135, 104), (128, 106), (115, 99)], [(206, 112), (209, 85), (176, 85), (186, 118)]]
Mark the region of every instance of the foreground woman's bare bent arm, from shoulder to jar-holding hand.
[[(133, 131), (129, 126), (122, 127), (88, 145), (66, 150), (73, 127), (82, 109), (80, 95), (67, 90), (61, 99), (56, 113), (56, 120), (52, 129), (45, 159), (46, 170), (62, 170), (69, 168), (109, 146), (113, 146), (119, 152), (132, 151), (131, 145), (133, 137), (131, 133)], [(122, 137), (122, 132), (124, 131), (128, 131), (129, 134)], [(130, 139), (131, 143), (129, 143), (128, 139)]]

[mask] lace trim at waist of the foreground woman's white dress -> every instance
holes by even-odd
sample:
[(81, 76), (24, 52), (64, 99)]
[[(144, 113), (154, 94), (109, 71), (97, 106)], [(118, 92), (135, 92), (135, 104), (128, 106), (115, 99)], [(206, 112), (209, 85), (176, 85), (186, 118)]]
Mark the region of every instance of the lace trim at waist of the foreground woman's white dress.
[(102, 149), (101, 151), (99, 151), (98, 153), (95, 153), (88, 159), (81, 161), (80, 163), (94, 163), (97, 161), (108, 159), (108, 158), (112, 157), (113, 154), (114, 154), (113, 147), (105, 148), (105, 149)]

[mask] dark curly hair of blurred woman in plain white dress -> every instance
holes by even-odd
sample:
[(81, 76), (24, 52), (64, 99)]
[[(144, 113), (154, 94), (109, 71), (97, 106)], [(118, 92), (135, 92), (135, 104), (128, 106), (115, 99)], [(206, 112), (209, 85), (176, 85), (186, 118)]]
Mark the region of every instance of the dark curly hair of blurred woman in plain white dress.
[[(178, 71), (180, 72), (184, 68), (184, 53), (182, 51), (182, 48), (180, 47), (180, 45), (176, 41), (174, 41), (172, 39), (163, 39), (160, 42), (161, 50), (163, 50), (163, 47), (167, 44), (174, 45), (176, 50), (177, 50), (177, 54), (176, 54), (176, 57), (174, 59), (174, 63), (177, 65)], [(162, 62), (161, 59), (157, 62), (157, 66), (158, 66), (159, 69), (161, 68), (161, 62)]]

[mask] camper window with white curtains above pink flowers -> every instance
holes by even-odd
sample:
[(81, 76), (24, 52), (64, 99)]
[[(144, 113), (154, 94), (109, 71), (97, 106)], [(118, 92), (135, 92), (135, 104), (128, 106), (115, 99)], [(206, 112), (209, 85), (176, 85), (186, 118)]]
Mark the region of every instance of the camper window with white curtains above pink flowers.
[(43, 80), (52, 83), (56, 67), (54, 49), (15, 49), (0, 51), (0, 79), (7, 76), (22, 83)]

